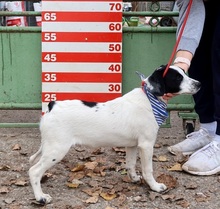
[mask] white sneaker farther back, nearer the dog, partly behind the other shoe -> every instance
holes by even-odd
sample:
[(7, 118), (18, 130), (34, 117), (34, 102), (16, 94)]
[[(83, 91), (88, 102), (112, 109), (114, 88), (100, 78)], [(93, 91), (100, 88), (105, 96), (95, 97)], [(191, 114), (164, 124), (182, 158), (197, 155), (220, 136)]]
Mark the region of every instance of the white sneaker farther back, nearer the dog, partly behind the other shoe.
[(204, 128), (200, 128), (198, 131), (188, 134), (184, 141), (168, 147), (168, 150), (174, 155), (177, 155), (177, 153), (190, 155), (209, 144), (212, 140), (213, 137), (209, 132)]

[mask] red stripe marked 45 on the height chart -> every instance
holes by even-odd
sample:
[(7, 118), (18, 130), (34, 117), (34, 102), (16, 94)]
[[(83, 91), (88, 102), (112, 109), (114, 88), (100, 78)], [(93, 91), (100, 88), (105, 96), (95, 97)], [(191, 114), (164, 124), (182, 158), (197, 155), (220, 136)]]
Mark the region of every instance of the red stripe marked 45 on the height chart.
[(122, 53), (42, 52), (42, 62), (121, 62), (121, 59)]

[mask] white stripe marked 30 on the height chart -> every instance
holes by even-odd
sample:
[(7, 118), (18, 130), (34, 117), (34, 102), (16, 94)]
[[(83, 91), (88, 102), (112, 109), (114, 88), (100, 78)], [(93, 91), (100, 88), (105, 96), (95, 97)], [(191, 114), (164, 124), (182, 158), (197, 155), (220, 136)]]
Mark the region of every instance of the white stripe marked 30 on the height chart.
[[(120, 91), (109, 91), (109, 85), (119, 85)], [(42, 92), (65, 93), (121, 93), (121, 83), (44, 83)]]

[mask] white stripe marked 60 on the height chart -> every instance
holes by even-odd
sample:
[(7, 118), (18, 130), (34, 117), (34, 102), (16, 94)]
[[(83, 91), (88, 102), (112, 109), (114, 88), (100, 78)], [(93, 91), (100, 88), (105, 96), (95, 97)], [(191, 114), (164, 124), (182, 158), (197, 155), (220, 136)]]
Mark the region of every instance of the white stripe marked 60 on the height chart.
[[(120, 30), (110, 30), (110, 24), (120, 24)], [(42, 32), (121, 32), (121, 22), (42, 22)]]

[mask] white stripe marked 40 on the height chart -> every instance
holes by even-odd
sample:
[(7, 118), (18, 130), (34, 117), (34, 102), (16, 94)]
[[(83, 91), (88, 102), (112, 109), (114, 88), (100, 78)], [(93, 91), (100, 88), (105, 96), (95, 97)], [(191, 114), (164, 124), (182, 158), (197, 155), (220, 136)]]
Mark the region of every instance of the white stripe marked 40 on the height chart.
[(120, 66), (122, 69), (121, 63), (80, 63), (80, 62), (43, 62), (42, 63), (42, 72), (113, 72), (121, 73), (117, 71), (110, 71), (109, 67), (114, 64)]

